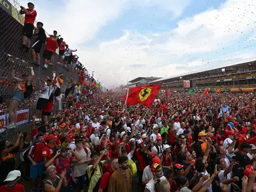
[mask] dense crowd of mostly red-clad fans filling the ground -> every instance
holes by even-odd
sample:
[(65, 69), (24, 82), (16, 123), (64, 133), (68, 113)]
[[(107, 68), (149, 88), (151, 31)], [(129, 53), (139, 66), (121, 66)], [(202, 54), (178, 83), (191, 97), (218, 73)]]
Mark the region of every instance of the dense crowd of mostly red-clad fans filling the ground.
[(160, 93), (150, 108), (124, 106), (123, 95), (98, 90), (49, 122), (33, 117), (31, 135), (0, 145), (4, 189), (23, 189), (21, 177), (33, 191), (256, 189), (253, 94)]

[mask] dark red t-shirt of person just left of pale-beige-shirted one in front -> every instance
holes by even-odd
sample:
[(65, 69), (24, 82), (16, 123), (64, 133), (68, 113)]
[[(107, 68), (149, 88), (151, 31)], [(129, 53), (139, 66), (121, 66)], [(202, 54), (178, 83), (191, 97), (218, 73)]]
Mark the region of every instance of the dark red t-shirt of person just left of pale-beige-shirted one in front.
[(64, 160), (57, 158), (53, 161), (53, 165), (55, 165), (57, 173), (61, 174), (64, 169), (66, 169), (66, 179), (68, 181), (70, 181), (70, 177), (68, 177), (68, 172), (70, 171), (70, 164), (72, 163), (73, 159), (74, 157), (66, 157)]

